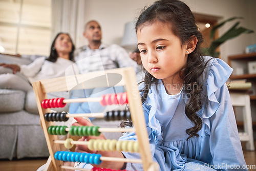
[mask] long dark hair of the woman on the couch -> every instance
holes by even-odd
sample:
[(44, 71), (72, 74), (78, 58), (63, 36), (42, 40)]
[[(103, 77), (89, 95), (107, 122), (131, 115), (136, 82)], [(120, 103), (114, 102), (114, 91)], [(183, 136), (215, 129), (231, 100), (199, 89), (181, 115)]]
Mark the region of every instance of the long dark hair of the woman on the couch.
[[(58, 34), (56, 35), (56, 37), (54, 38), (53, 42), (52, 42), (50, 56), (49, 56), (46, 60), (49, 60), (49, 61), (51, 61), (51, 62), (56, 62), (56, 60), (57, 60), (57, 58), (58, 58), (58, 53), (57, 53), (56, 49), (54, 48), (54, 45), (55, 45), (56, 39), (58, 38), (58, 36), (59, 36), (60, 34), (66, 34), (66, 35), (68, 35), (68, 36), (70, 37), (70, 35), (69, 35), (68, 33), (62, 33), (62, 32), (58, 33)], [(71, 37), (70, 37), (70, 39), (71, 39)], [(70, 52), (70, 54), (69, 54), (69, 60), (74, 61), (75, 46), (74, 46), (74, 44), (73, 44), (72, 39), (71, 39), (71, 43), (72, 43), (72, 50), (71, 50), (71, 52)]]

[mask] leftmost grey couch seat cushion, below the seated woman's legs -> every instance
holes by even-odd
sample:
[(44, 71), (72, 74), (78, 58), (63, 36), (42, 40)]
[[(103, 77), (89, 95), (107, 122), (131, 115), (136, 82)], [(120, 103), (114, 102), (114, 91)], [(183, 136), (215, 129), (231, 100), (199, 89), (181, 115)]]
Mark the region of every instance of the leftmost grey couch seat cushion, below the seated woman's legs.
[(0, 89), (0, 113), (23, 110), (25, 92), (21, 90)]

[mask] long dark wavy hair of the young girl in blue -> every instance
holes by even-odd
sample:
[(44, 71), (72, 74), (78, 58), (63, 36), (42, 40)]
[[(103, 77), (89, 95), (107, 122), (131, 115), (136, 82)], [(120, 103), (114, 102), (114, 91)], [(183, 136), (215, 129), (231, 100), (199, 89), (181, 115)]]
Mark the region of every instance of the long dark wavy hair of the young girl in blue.
[[(182, 69), (181, 78), (184, 80), (184, 90), (188, 101), (185, 105), (185, 114), (194, 124), (193, 127), (186, 130), (186, 133), (191, 137), (199, 137), (197, 134), (202, 128), (202, 120), (197, 112), (202, 109), (201, 92), (202, 82), (199, 77), (202, 75), (206, 64), (204, 63), (200, 45), (203, 42), (203, 37), (196, 24), (195, 17), (190, 8), (183, 2), (178, 0), (162, 0), (155, 2), (151, 7), (144, 9), (138, 17), (136, 23), (136, 32), (138, 29), (154, 24), (156, 21), (164, 24), (169, 24), (172, 32), (180, 38), (181, 45), (197, 38), (196, 49), (188, 54), (186, 66)], [(148, 91), (151, 84), (156, 83), (158, 79), (153, 77), (145, 69), (144, 88), (140, 90), (142, 103), (145, 103)], [(131, 125), (129, 122), (123, 122), (124, 125)]]

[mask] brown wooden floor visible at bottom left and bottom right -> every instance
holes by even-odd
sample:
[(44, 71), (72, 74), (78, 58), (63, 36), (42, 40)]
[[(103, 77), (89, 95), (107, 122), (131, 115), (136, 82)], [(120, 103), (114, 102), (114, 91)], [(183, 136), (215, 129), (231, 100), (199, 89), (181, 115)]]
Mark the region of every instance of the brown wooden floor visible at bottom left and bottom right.
[[(254, 141), (256, 146), (256, 141)], [(242, 142), (242, 147), (244, 149), (244, 157), (249, 171), (256, 170), (256, 151), (245, 151), (245, 143)], [(0, 170), (1, 171), (35, 171), (41, 165), (45, 164), (47, 158), (38, 159), (22, 159), (22, 160), (0, 160)]]

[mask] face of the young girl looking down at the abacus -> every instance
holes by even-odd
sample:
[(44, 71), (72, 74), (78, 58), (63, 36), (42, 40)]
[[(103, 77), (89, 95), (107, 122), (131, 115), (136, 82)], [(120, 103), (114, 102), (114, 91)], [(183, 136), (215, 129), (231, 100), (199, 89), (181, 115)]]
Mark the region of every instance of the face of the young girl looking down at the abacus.
[(187, 62), (186, 46), (181, 45), (180, 38), (159, 21), (139, 27), (137, 37), (145, 70), (165, 83), (174, 83), (174, 76)]

